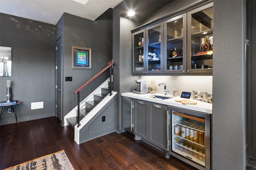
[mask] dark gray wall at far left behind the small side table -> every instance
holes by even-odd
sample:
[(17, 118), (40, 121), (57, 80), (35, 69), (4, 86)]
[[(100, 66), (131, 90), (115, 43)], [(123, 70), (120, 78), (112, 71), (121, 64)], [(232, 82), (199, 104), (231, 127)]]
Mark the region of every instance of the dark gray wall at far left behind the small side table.
[[(12, 76), (0, 77), (0, 101), (6, 101), (6, 80), (11, 80), (18, 121), (55, 115), (55, 25), (0, 14), (0, 46), (12, 47)], [(44, 108), (31, 110), (32, 102)], [(1, 125), (16, 123), (4, 112)]]

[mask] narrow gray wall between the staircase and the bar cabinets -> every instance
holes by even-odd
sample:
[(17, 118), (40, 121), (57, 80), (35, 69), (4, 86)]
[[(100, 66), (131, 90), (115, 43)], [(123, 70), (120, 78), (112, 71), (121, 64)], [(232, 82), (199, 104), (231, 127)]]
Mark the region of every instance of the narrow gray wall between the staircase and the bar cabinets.
[(126, 10), (122, 3), (113, 9), (113, 62), (114, 91), (117, 92), (116, 131), (122, 132), (122, 93), (131, 92), (135, 88), (135, 80), (140, 76), (131, 76), (132, 66), (132, 33), (138, 23), (121, 17)]

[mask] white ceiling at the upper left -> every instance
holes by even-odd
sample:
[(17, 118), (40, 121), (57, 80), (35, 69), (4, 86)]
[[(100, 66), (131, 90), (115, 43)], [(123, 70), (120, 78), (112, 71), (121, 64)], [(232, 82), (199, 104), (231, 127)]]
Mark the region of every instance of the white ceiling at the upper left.
[(108, 8), (114, 8), (122, 0), (0, 0), (0, 13), (56, 25), (64, 12), (96, 20)]

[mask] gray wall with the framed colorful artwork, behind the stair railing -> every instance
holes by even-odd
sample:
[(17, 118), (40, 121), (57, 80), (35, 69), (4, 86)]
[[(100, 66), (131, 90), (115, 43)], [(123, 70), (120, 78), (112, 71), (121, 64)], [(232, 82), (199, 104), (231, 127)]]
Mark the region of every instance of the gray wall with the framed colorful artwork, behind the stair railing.
[[(63, 20), (63, 21), (62, 21)], [(112, 9), (95, 21), (64, 13), (58, 23), (64, 23), (64, 31), (57, 35), (64, 38), (63, 64), (63, 117), (77, 105), (74, 91), (92, 78), (112, 60)], [(59, 37), (56, 37), (58, 39)], [(72, 46), (92, 49), (92, 69), (72, 68)], [(65, 77), (72, 77), (66, 82)]]

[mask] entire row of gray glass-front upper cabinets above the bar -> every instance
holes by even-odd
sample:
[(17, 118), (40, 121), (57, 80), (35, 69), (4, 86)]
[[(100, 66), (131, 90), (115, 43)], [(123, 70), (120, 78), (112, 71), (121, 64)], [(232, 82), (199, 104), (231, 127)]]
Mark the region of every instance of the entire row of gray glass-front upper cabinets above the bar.
[(132, 30), (132, 74), (212, 75), (212, 45), (213, 2)]

